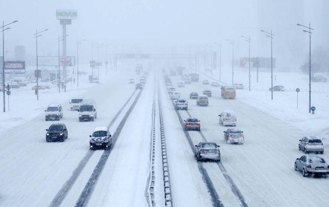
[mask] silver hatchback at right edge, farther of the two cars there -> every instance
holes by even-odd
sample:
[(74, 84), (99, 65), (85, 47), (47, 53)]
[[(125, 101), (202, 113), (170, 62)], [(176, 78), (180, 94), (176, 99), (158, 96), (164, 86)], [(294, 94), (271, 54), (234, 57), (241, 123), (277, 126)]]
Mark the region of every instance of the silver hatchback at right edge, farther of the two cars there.
[(307, 154), (309, 152), (321, 153), (323, 154), (324, 146), (322, 140), (317, 136), (303, 137), (299, 140), (298, 144), (299, 150), (304, 150)]

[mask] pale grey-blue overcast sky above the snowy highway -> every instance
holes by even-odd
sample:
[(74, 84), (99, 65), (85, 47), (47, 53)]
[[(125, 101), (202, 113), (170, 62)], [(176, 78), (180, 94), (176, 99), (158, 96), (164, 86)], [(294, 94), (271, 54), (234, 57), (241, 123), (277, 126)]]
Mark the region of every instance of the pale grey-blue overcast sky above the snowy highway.
[[(67, 25), (67, 55), (76, 55), (76, 41), (84, 60), (91, 59), (91, 44), (118, 45), (122, 52), (170, 53), (177, 45), (178, 53), (195, 45), (222, 44), (223, 63), (229, 63), (234, 40), (239, 58), (248, 56), (248, 42), (240, 35), (252, 38), (252, 57), (270, 57), (270, 39), (260, 29), (273, 31), (273, 56), (280, 66), (291, 67), (305, 60), (308, 35), (296, 23), (315, 28), (312, 48), (327, 47), (326, 0), (1, 0), (0, 20), (14, 20), (5, 31), (8, 59), (14, 58), (15, 45), (25, 45), (28, 58), (35, 54), (35, 30), (49, 31), (38, 38), (40, 55), (57, 55), (56, 38), (62, 26), (56, 19), (56, 9), (74, 9), (78, 19)], [(2, 45), (2, 44), (0, 44)], [(218, 47), (215, 45), (216, 50)], [(104, 48), (102, 53), (104, 53)], [(193, 49), (192, 49), (193, 50)], [(61, 52), (62, 53), (62, 52)]]

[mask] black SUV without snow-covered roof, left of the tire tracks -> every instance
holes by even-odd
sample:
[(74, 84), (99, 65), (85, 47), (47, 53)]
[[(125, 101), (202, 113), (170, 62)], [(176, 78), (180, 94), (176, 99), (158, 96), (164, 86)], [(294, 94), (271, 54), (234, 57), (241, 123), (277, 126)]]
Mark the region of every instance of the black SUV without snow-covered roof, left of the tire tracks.
[(46, 129), (46, 141), (64, 141), (68, 137), (65, 124), (52, 124)]

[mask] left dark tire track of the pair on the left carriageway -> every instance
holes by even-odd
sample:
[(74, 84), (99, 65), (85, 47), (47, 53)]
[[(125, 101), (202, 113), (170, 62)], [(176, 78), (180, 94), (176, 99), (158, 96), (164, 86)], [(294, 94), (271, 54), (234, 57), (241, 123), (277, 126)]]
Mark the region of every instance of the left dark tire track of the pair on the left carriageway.
[[(121, 114), (121, 112), (125, 109), (125, 107), (128, 105), (134, 94), (136, 93), (136, 90), (131, 94), (131, 96), (128, 98), (124, 106), (120, 108), (120, 110), (115, 114), (113, 119), (108, 125), (108, 128), (110, 128), (113, 123), (116, 121), (118, 116)], [(85, 154), (84, 158), (79, 162), (78, 166), (74, 169), (71, 177), (65, 182), (65, 184), (61, 187), (61, 189), (58, 191), (56, 196), (53, 198), (52, 202), (50, 203), (50, 207), (57, 207), (60, 206), (61, 203), (63, 202), (64, 198), (66, 197), (68, 191), (71, 189), (73, 184), (75, 183), (76, 179), (79, 177), (81, 172), (84, 170), (86, 167), (86, 164), (88, 163), (89, 159), (92, 157), (93, 150), (88, 150), (87, 153)]]

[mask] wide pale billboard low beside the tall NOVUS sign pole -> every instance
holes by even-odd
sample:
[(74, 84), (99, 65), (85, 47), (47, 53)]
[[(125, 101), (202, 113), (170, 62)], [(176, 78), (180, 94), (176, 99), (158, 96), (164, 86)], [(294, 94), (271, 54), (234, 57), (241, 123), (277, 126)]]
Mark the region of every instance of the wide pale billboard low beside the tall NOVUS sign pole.
[[(38, 66), (58, 66), (58, 56), (38, 56)], [(59, 57), (59, 66), (75, 66), (75, 57)]]

